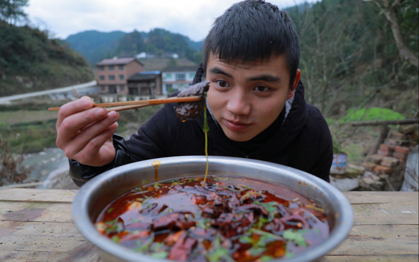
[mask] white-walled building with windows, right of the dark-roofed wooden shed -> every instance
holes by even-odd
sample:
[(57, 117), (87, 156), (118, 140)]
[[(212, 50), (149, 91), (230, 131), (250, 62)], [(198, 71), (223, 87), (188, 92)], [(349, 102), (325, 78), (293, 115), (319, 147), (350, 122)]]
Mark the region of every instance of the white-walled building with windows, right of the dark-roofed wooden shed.
[(162, 94), (170, 95), (174, 91), (188, 88), (194, 80), (197, 66), (166, 67), (162, 72)]

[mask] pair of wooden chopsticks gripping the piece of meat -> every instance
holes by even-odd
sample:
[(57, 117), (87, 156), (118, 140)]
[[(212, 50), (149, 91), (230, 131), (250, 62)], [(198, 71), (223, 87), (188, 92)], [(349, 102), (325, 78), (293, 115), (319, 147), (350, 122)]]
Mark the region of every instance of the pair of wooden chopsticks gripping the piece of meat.
[[(199, 96), (185, 96), (185, 97), (169, 97), (163, 99), (146, 99), (146, 100), (137, 100), (137, 101), (126, 101), (126, 102), (114, 102), (114, 103), (101, 103), (95, 104), (93, 107), (108, 107), (109, 111), (122, 111), (132, 108), (139, 108), (143, 106), (152, 106), (159, 104), (167, 103), (181, 103), (181, 102), (195, 102), (199, 101), (201, 98)], [(60, 107), (50, 107), (48, 111), (58, 111)]]

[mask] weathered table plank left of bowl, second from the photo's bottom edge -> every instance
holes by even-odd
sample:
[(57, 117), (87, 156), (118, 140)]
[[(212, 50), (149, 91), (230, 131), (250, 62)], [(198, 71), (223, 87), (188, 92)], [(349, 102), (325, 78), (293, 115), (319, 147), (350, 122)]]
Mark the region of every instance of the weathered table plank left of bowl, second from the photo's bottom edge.
[(73, 223), (0, 221), (0, 250), (67, 252), (86, 241)]

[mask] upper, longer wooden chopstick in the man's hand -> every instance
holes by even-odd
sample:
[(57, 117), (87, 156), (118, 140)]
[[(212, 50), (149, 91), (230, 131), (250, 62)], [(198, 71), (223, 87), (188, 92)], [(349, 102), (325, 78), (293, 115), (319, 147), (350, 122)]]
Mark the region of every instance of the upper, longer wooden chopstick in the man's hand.
[[(138, 101), (126, 101), (126, 102), (114, 102), (114, 103), (102, 103), (95, 104), (93, 107), (110, 107), (110, 106), (128, 106), (128, 105), (158, 105), (158, 104), (167, 104), (167, 103), (181, 103), (181, 102), (195, 102), (199, 101), (201, 98), (199, 96), (184, 96), (184, 97), (169, 97), (162, 99), (146, 99)], [(59, 107), (50, 107), (48, 111), (58, 111)]]

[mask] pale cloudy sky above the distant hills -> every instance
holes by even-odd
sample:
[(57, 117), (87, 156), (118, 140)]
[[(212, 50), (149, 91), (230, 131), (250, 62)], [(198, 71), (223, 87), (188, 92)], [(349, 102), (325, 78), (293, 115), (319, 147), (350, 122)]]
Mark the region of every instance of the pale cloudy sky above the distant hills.
[[(238, 0), (29, 0), (31, 23), (62, 39), (86, 30), (132, 32), (163, 28), (202, 40), (215, 18)], [(286, 8), (305, 0), (271, 0)], [(308, 0), (307, 2), (315, 2)]]

